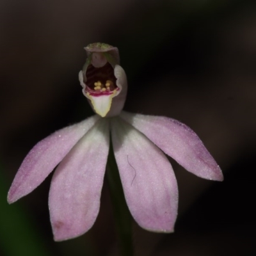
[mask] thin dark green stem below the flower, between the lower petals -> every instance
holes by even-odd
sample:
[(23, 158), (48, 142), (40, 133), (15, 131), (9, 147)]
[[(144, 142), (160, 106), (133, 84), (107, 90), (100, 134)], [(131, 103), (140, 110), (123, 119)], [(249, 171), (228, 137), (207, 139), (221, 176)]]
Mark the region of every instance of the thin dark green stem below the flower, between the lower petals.
[(124, 191), (111, 143), (107, 164), (107, 177), (111, 200), (113, 202), (113, 212), (116, 222), (116, 230), (118, 232), (120, 253), (122, 256), (132, 256), (132, 218), (125, 202)]

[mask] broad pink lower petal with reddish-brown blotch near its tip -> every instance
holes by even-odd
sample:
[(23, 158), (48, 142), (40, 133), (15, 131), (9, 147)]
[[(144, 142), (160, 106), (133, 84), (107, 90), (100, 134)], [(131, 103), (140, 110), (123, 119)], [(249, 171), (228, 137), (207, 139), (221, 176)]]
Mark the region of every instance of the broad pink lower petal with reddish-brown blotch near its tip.
[(49, 209), (55, 241), (81, 236), (95, 222), (108, 150), (108, 119), (101, 119), (70, 150), (54, 172)]

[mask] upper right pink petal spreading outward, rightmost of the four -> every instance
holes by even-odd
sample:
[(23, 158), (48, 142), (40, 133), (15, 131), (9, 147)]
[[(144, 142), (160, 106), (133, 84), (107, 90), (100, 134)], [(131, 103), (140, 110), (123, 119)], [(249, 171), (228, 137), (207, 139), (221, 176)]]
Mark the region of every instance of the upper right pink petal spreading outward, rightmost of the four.
[(200, 138), (187, 125), (164, 116), (146, 116), (124, 111), (121, 117), (189, 172), (204, 179), (223, 180), (220, 167)]

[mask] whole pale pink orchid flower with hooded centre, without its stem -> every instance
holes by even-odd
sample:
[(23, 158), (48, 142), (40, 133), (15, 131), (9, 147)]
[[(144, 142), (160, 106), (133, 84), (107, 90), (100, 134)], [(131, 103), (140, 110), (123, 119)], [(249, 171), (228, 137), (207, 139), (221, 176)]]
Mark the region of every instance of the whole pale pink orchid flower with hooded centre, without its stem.
[(122, 111), (127, 79), (116, 47), (90, 44), (79, 72), (83, 94), (97, 115), (54, 132), (35, 145), (8, 193), (12, 204), (52, 172), (49, 211), (56, 241), (81, 236), (95, 222), (109, 153), (109, 137), (134, 220), (154, 232), (173, 232), (178, 188), (168, 155), (188, 172), (223, 180), (220, 167), (188, 126), (163, 116)]

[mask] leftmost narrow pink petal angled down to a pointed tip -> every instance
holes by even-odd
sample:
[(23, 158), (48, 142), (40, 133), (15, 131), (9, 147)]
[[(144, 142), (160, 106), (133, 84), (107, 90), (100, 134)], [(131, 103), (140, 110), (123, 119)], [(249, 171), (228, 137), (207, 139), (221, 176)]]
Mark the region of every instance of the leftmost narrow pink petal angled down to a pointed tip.
[(9, 204), (39, 186), (98, 119), (98, 116), (92, 116), (79, 124), (56, 131), (38, 142), (24, 159), (13, 180), (8, 192)]

